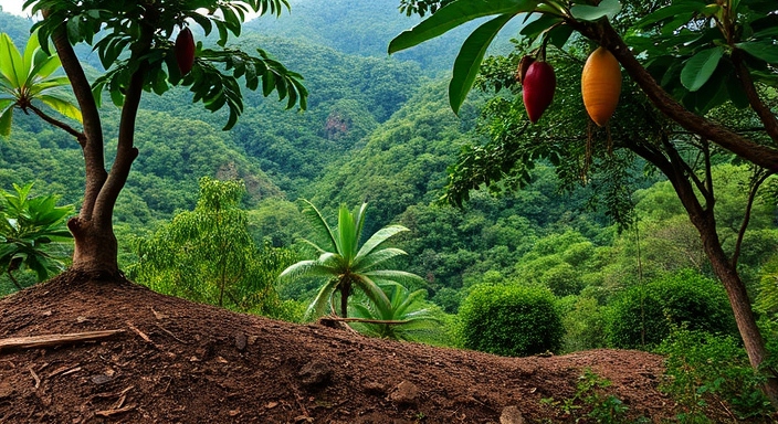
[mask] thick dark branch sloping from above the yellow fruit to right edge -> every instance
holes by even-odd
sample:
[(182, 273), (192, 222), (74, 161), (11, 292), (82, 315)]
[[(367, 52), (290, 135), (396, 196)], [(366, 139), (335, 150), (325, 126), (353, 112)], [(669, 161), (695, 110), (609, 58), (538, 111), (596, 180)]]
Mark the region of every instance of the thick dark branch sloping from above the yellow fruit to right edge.
[(778, 150), (756, 144), (726, 127), (717, 125), (687, 110), (662, 88), (649, 72), (638, 62), (629, 46), (613, 30), (610, 23), (580, 22), (568, 19), (567, 23), (584, 36), (608, 49), (621, 63), (627, 73), (645, 93), (651, 103), (662, 114), (683, 128), (697, 134), (760, 167), (778, 171)]

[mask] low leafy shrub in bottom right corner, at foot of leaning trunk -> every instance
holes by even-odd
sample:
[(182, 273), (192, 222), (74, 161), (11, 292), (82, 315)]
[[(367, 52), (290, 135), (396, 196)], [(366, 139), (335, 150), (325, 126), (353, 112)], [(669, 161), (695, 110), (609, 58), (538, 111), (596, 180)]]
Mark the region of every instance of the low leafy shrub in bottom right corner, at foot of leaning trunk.
[(763, 379), (735, 338), (674, 328), (658, 352), (667, 356), (660, 389), (683, 409), (680, 422), (713, 422), (706, 412), (740, 420), (770, 414), (770, 402), (759, 390)]

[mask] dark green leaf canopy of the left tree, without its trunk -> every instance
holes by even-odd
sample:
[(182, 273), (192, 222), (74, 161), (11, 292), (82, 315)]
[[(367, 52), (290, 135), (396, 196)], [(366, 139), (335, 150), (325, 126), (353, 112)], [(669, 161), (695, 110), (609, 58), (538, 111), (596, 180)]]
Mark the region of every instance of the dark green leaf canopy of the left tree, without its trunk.
[[(99, 105), (102, 92), (107, 89), (112, 100), (120, 106), (132, 77), (140, 72), (144, 89), (162, 94), (170, 86), (182, 85), (193, 93), (195, 102), (202, 102), (208, 110), (229, 109), (224, 129), (235, 125), (243, 112), (243, 98), (238, 80), (243, 77), (250, 89), (263, 85), (263, 94), (278, 94), (287, 99), (287, 108), (299, 104), (305, 108), (307, 91), (302, 76), (288, 71), (259, 49), (250, 55), (227, 49), (230, 35), (241, 33), (248, 13), (278, 15), (288, 8), (285, 0), (242, 1), (150, 1), (112, 2), (86, 1), (77, 4), (56, 0), (28, 0), (32, 12), (42, 12), (45, 19), (33, 25), (45, 51), (49, 39), (64, 32), (71, 44), (85, 42), (97, 52), (104, 75), (93, 83), (93, 94)], [(198, 42), (192, 71), (181, 75), (176, 65), (172, 36), (190, 22), (200, 25), (206, 35), (214, 28), (221, 50), (203, 49)]]

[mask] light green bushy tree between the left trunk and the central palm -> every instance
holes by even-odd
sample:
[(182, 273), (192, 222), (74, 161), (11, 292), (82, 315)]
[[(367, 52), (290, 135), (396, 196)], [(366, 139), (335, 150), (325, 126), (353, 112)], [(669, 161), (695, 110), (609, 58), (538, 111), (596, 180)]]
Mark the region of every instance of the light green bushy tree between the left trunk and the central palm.
[(200, 179), (193, 211), (178, 213), (138, 243), (132, 277), (150, 288), (197, 301), (263, 315), (278, 312), (275, 279), (294, 257), (288, 250), (262, 250), (240, 205), (243, 181)]

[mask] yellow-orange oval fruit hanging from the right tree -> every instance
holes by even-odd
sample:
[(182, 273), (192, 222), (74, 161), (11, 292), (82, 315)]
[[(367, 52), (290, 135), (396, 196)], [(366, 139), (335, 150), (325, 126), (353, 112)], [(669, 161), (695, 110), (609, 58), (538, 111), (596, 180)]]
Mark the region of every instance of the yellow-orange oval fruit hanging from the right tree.
[(602, 127), (616, 112), (621, 94), (621, 68), (619, 61), (604, 47), (589, 55), (581, 74), (581, 95), (586, 112)]

